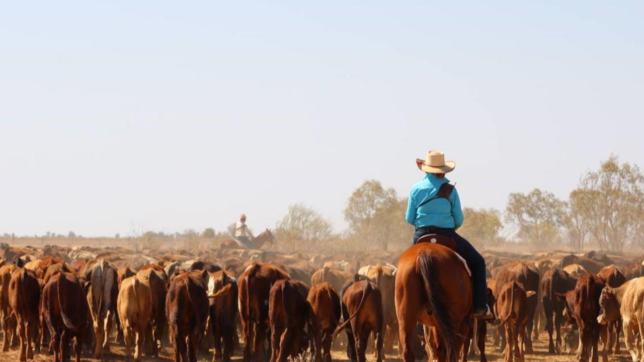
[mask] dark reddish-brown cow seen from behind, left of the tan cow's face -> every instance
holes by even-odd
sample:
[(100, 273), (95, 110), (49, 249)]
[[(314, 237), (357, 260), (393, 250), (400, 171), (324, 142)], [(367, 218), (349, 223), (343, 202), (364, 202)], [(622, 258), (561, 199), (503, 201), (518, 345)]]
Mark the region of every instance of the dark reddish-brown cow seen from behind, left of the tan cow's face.
[(600, 295), (605, 282), (595, 274), (586, 274), (579, 278), (574, 289), (573, 316), (579, 327), (580, 362), (589, 360), (592, 352), (592, 362), (599, 361), (598, 341), (600, 325), (597, 316), (600, 314)]

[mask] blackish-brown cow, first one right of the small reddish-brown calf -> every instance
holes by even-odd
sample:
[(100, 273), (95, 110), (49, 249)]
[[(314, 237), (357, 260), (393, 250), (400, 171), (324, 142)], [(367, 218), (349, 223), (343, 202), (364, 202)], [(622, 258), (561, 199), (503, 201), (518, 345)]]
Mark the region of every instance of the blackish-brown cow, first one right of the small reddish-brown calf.
[[(545, 329), (549, 338), (549, 353), (561, 352), (561, 325), (565, 306), (564, 301), (557, 298), (557, 293), (573, 291), (576, 284), (577, 279), (562, 269), (555, 268), (544, 273), (541, 281), (541, 301), (544, 306)], [(553, 332), (556, 332), (554, 339)]]

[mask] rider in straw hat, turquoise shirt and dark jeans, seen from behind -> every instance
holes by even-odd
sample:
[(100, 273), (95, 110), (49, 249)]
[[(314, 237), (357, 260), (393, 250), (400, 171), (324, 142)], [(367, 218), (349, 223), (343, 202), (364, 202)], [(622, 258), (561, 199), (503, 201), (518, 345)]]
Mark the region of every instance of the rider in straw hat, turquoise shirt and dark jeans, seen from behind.
[(457, 245), (456, 251), (471, 270), (474, 316), (493, 318), (487, 303), (485, 259), (468, 240), (456, 233), (456, 229), (463, 224), (463, 212), (459, 193), (445, 178), (445, 174), (456, 167), (455, 162), (445, 162), (445, 155), (440, 151), (429, 151), (425, 160), (417, 158), (416, 165), (426, 175), (413, 185), (407, 206), (405, 219), (416, 227), (413, 243), (428, 234), (452, 238)]

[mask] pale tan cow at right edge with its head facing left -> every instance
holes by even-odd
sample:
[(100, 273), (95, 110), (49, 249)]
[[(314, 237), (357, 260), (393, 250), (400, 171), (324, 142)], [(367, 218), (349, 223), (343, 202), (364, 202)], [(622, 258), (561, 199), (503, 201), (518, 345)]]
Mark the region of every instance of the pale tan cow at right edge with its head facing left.
[(641, 361), (644, 328), (644, 278), (627, 281), (621, 287), (605, 287), (600, 297), (598, 323), (623, 319), (626, 348), (634, 362)]

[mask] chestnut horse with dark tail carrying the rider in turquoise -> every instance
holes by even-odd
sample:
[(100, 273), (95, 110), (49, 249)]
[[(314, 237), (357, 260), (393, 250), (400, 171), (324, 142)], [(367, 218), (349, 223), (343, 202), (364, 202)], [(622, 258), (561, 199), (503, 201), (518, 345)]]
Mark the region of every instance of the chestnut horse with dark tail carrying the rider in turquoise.
[(415, 359), (417, 323), (429, 327), (426, 346), (433, 358), (456, 362), (472, 322), (468, 269), (456, 252), (435, 243), (435, 238), (413, 245), (398, 260), (395, 302), (405, 362)]

